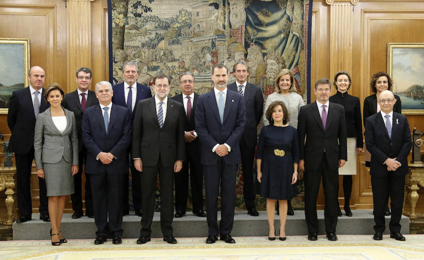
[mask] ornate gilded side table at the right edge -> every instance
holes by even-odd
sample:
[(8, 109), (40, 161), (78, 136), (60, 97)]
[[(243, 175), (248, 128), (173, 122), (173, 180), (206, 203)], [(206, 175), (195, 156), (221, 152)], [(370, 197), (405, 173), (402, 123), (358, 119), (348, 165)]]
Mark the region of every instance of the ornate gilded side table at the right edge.
[[(413, 163), (409, 165), (409, 173), (406, 175), (406, 188), (409, 190), (409, 193), (405, 193), (405, 196), (408, 196), (411, 203), (411, 212), (410, 220), (411, 223), (414, 223), (415, 219), (424, 216), (424, 213), (416, 213), (415, 206), (418, 201), (418, 190), (420, 189), (418, 185), (424, 187), (424, 164), (422, 163)], [(409, 213), (409, 212), (404, 212)]]

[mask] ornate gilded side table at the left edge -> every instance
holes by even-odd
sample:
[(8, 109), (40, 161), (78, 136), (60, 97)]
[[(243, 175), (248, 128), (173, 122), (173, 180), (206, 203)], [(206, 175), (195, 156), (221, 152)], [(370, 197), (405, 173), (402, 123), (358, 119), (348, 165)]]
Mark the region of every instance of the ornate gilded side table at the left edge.
[(14, 199), (14, 188), (15, 188), (15, 175), (16, 167), (3, 167), (0, 166), (0, 191), (5, 190), (6, 197), (6, 208), (7, 208), (7, 219), (0, 219), (0, 223), (6, 224), (9, 228), (12, 227), (13, 222), (16, 218), (16, 208)]

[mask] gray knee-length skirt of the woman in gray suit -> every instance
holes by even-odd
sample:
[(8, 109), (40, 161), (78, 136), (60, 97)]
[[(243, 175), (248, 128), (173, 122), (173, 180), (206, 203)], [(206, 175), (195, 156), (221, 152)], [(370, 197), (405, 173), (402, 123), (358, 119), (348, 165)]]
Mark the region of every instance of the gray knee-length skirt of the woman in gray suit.
[(58, 163), (43, 163), (47, 186), (47, 196), (73, 194), (74, 177), (71, 175), (72, 163), (63, 157)]

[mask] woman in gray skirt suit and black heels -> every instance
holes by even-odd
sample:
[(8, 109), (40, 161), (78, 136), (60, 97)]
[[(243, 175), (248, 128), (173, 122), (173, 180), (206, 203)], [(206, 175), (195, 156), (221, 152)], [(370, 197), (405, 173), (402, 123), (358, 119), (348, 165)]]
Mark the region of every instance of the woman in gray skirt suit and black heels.
[(64, 91), (57, 83), (49, 85), (44, 99), (50, 103), (37, 116), (34, 133), (34, 159), (37, 175), (46, 180), (53, 246), (66, 243), (60, 232), (67, 195), (74, 193), (78, 172), (78, 137), (74, 113), (63, 108)]

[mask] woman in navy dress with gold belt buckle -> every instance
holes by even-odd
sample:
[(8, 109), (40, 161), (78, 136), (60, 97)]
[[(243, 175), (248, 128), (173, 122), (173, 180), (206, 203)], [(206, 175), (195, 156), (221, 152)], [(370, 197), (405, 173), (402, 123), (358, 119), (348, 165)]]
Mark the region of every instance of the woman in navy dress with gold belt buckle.
[(262, 127), (256, 154), (257, 178), (261, 197), (267, 198), (269, 240), (275, 240), (275, 202), (279, 202), (279, 239), (286, 240), (287, 200), (293, 198), (297, 181), (299, 141), (296, 128), (287, 124), (289, 113), (282, 101), (272, 102), (266, 113), (269, 125)]

